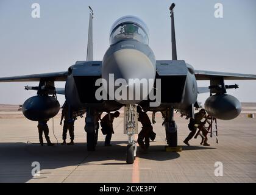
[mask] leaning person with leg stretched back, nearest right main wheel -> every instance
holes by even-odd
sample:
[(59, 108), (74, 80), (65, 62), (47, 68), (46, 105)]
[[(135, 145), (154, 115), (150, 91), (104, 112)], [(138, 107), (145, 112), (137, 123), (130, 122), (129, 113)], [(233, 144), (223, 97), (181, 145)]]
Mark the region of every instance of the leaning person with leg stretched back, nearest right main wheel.
[(201, 120), (205, 117), (205, 115), (206, 115), (206, 112), (204, 108), (202, 108), (198, 113), (194, 114), (194, 118), (190, 118), (188, 129), (190, 129), (191, 132), (190, 134), (188, 134), (188, 137), (183, 141), (183, 143), (190, 146), (188, 141), (190, 141), (196, 134), (196, 129), (202, 124)]

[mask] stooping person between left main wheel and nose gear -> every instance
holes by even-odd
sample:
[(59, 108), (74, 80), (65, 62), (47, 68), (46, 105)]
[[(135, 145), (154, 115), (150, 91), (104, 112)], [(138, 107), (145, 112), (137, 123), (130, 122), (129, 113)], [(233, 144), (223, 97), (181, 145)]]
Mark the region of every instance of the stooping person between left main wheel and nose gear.
[(113, 121), (115, 118), (118, 118), (120, 113), (116, 111), (115, 113), (108, 113), (101, 119), (101, 131), (105, 137), (105, 146), (112, 146), (110, 144), (112, 133), (115, 133), (113, 130)]

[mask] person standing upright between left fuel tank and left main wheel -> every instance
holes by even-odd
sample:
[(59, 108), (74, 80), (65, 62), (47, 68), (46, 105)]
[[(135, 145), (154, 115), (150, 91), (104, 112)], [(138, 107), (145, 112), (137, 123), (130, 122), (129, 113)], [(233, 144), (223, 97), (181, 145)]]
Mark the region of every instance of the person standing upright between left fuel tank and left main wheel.
[(74, 121), (76, 120), (76, 118), (74, 118), (73, 115), (69, 117), (67, 104), (64, 104), (62, 107), (62, 118), (60, 119), (60, 125), (62, 125), (63, 118), (64, 118), (64, 125), (63, 125), (63, 132), (62, 132), (62, 139), (63, 139), (62, 145), (66, 144), (67, 132), (69, 132), (69, 136), (70, 136), (70, 142), (67, 145), (74, 145)]

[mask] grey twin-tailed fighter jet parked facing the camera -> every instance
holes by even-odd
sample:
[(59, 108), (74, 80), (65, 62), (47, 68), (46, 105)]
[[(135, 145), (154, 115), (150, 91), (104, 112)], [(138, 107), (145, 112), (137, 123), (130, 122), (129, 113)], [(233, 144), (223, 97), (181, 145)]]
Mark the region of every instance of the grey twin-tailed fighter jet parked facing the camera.
[[(49, 119), (57, 115), (60, 104), (52, 96), (65, 94), (69, 112), (86, 112), (85, 131), (87, 150), (94, 151), (99, 113), (113, 112), (125, 107), (126, 126), (129, 137), (127, 163), (132, 164), (137, 151), (133, 141), (137, 105), (145, 112), (161, 112), (164, 119), (166, 141), (177, 146), (177, 125), (174, 110), (187, 118), (194, 117), (199, 108), (197, 94), (210, 93), (205, 110), (215, 118), (229, 120), (241, 112), (241, 104), (227, 94), (227, 89), (238, 85), (225, 85), (224, 80), (255, 80), (256, 75), (221, 73), (196, 70), (184, 60), (177, 60), (174, 27), (174, 7), (171, 11), (172, 60), (155, 60), (149, 47), (149, 29), (136, 16), (123, 16), (116, 20), (110, 30), (110, 46), (102, 61), (93, 60), (93, 10), (90, 9), (88, 26), (87, 60), (77, 61), (68, 71), (0, 78), (0, 82), (39, 82), (37, 96), (27, 99), (23, 113), (33, 121)], [(197, 80), (210, 80), (207, 87), (197, 87)], [(65, 82), (65, 88), (55, 88), (54, 82)], [(154, 120), (154, 117), (153, 117)]]

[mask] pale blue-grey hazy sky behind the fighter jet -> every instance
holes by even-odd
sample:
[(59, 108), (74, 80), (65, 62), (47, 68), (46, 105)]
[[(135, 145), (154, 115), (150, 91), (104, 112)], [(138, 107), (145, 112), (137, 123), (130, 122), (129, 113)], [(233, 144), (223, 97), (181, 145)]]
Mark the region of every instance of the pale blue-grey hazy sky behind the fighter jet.
[[(41, 18), (31, 17), (31, 5), (40, 4)], [(149, 28), (149, 46), (157, 60), (171, 59), (172, 1), (63, 1), (0, 0), (0, 77), (66, 71), (86, 59), (88, 5), (94, 10), (94, 60), (107, 50), (110, 27), (124, 15), (143, 19)], [(174, 1), (177, 57), (195, 69), (256, 74), (256, 1)], [(224, 18), (214, 16), (221, 2)], [(229, 93), (242, 102), (256, 102), (256, 81), (232, 81)], [(199, 82), (207, 86), (208, 82)], [(36, 91), (25, 85), (0, 83), (0, 104), (23, 104)], [(57, 83), (64, 87), (65, 83)], [(88, 86), (89, 87), (89, 86)], [(204, 102), (208, 94), (199, 95)], [(59, 95), (60, 103), (64, 97)]]

